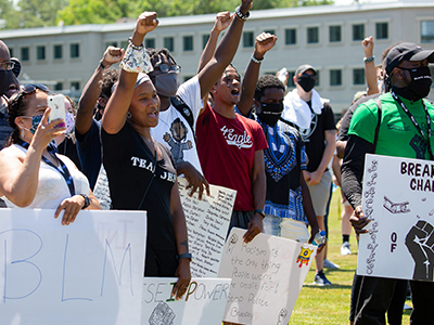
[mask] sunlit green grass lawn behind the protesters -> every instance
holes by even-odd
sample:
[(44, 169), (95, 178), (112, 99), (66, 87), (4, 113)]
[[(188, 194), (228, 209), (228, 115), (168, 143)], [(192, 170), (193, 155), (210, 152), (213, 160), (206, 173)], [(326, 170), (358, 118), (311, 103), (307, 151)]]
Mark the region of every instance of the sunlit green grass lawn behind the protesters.
[[(305, 284), (299, 292), (290, 325), (341, 325), (349, 324), (349, 297), (352, 292), (353, 276), (357, 268), (357, 242), (353, 232), (350, 235), (350, 256), (341, 256), (341, 194), (336, 191), (333, 195), (329, 214), (329, 248), (328, 259), (341, 268), (337, 270), (324, 269), (331, 286), (314, 286), (315, 261), (306, 276)], [(411, 306), (410, 301), (407, 304)], [(411, 311), (404, 311), (403, 324), (409, 324)]]

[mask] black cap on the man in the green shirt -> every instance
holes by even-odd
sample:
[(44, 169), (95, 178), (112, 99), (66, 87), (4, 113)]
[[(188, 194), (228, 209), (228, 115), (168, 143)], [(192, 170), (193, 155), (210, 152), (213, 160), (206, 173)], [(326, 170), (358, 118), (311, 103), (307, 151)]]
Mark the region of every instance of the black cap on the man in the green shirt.
[(387, 75), (396, 68), (403, 61), (422, 61), (427, 58), (429, 62), (434, 62), (434, 50), (423, 50), (416, 43), (400, 43), (388, 51), (384, 60), (384, 67)]

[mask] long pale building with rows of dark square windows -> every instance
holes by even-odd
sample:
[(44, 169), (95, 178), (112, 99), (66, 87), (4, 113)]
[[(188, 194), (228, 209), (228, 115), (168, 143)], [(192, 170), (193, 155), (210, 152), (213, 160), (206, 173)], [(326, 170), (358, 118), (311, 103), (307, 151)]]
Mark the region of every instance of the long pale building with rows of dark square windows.
[[(161, 18), (158, 27), (146, 36), (145, 46), (168, 48), (181, 65), (180, 79), (184, 80), (196, 72), (214, 21), (214, 14)], [(16, 29), (0, 31), (0, 39), (22, 62), (22, 82), (28, 78), (46, 82), (52, 90), (79, 92), (105, 48), (126, 48), (133, 28), (135, 23), (119, 23)], [(365, 37), (374, 38), (375, 64), (381, 63), (381, 52), (398, 41), (434, 50), (434, 1), (252, 11), (233, 60), (241, 74), (252, 55), (255, 37), (261, 31), (278, 37), (261, 64), (261, 74), (275, 74), (282, 67), (293, 74), (301, 64), (311, 64), (319, 73), (316, 89), (331, 100), (334, 112), (340, 114), (357, 91), (366, 89), (361, 48)], [(434, 99), (434, 92), (430, 98)]]

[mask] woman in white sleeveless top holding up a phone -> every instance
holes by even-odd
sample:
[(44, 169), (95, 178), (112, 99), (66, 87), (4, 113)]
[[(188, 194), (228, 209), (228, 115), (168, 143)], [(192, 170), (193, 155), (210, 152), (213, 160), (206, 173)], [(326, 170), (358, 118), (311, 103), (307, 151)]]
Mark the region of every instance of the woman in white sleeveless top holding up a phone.
[(86, 177), (52, 140), (65, 131), (62, 119), (49, 120), (49, 89), (24, 84), (9, 101), (10, 145), (0, 152), (0, 193), (8, 207), (64, 211), (67, 225), (85, 208), (100, 209)]

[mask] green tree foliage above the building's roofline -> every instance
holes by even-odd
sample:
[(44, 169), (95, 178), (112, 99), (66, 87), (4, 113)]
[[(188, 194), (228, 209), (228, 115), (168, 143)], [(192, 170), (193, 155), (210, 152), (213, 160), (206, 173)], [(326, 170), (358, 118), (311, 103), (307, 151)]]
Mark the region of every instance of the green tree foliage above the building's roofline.
[[(0, 0), (0, 29), (64, 25), (111, 24), (142, 11), (159, 17), (233, 11), (240, 0)], [(254, 9), (330, 4), (332, 0), (260, 0)]]

